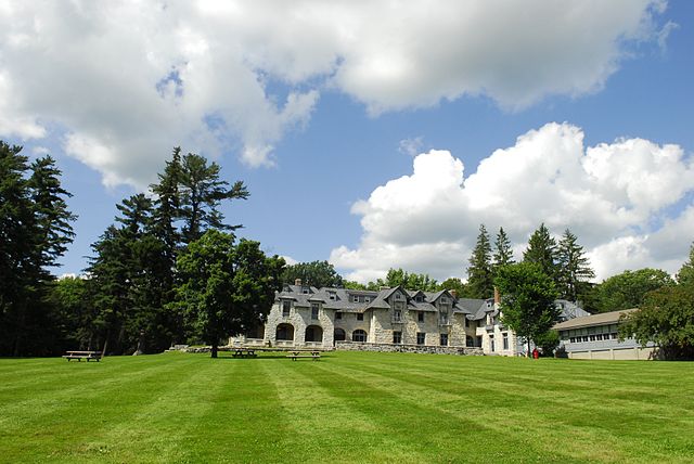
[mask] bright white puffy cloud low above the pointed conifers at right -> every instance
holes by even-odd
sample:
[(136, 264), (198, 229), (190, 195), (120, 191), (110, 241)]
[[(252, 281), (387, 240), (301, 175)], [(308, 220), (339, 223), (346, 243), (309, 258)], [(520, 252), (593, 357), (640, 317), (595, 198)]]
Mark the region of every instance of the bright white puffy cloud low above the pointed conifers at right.
[(674, 272), (694, 239), (694, 204), (672, 206), (693, 194), (694, 160), (680, 146), (619, 139), (586, 147), (580, 128), (552, 123), (467, 177), (447, 151), (420, 154), (412, 175), (354, 204), (361, 242), (333, 249), (330, 260), (359, 281), (390, 267), (465, 276), (480, 223), (492, 240), (503, 227), (520, 259), (544, 222), (557, 236), (568, 228), (579, 237), (599, 279), (646, 266)]

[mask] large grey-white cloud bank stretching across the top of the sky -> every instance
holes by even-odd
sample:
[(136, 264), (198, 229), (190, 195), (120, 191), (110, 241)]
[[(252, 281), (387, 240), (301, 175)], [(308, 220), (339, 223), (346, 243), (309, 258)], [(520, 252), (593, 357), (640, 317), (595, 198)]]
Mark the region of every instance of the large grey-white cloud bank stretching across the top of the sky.
[(175, 144), (267, 166), (325, 89), (374, 115), (600, 90), (631, 43), (664, 43), (664, 5), (0, 0), (0, 137), (57, 137), (106, 184), (146, 184)]

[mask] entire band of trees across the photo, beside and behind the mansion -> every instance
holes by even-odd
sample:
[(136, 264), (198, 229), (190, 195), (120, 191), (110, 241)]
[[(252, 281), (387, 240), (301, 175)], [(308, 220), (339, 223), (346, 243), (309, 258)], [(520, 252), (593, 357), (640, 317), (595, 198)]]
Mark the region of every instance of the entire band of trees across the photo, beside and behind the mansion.
[(641, 269), (596, 284), (570, 230), (557, 242), (540, 224), (516, 262), (503, 228), (492, 246), (481, 224), (466, 282), (390, 269), (361, 284), (327, 261), (285, 266), (258, 242), (237, 240), (241, 224), (227, 223), (219, 207), (246, 199), (246, 186), (229, 184), (219, 165), (178, 147), (147, 194), (117, 205), (114, 223), (91, 246), (85, 274), (56, 280), (51, 269), (75, 236), (72, 195), (53, 158), (29, 163), (21, 152), (0, 142), (0, 356), (76, 347), (156, 352), (172, 343), (209, 344), (215, 356), (224, 337), (262, 324), (274, 292), (296, 279), (317, 287), (454, 289), (467, 298), (490, 298), (496, 286), (504, 295), (504, 323), (536, 343), (558, 315), (556, 298), (591, 312), (641, 308), (621, 325), (622, 336), (655, 340), (671, 357), (694, 356), (694, 248), (676, 279)]

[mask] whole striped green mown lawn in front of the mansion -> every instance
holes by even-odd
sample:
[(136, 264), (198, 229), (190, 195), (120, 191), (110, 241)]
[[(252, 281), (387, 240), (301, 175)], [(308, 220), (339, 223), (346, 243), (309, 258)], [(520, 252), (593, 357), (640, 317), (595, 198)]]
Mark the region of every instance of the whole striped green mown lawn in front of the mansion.
[(694, 462), (694, 364), (0, 359), (0, 462), (590, 461)]

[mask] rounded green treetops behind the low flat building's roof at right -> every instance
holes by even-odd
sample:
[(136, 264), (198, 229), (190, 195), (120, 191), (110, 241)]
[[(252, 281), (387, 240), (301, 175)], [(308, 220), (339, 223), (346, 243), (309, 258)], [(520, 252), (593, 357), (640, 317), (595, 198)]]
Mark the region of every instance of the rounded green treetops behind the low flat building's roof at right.
[(660, 269), (625, 271), (593, 287), (586, 307), (592, 312), (639, 308), (648, 292), (673, 284), (672, 278)]

